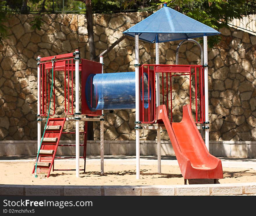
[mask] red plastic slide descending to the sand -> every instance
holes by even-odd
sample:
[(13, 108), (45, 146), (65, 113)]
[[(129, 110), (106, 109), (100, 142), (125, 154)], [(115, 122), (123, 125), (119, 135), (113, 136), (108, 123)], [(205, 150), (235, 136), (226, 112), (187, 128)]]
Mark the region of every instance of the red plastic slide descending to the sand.
[(221, 160), (211, 155), (195, 125), (189, 105), (183, 106), (179, 123), (170, 123), (166, 106), (157, 107), (173, 146), (184, 179), (223, 179)]

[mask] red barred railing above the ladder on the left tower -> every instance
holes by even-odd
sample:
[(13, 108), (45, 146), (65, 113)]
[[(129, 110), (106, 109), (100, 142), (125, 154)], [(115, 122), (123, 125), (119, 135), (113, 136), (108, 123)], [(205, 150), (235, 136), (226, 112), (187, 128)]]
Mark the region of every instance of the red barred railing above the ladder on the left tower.
[[(72, 54), (72, 53), (70, 53)], [(65, 57), (70, 57), (66, 55)], [(41, 60), (49, 60), (50, 57), (41, 58)], [(51, 58), (50, 58), (51, 59)], [(56, 58), (57, 59), (57, 58)], [(49, 111), (50, 95), (51, 95), (51, 82), (53, 80), (53, 90), (51, 96), (51, 105), (53, 113), (55, 114), (56, 109), (56, 87), (55, 79), (56, 72), (58, 76), (61, 76), (61, 71), (64, 71), (64, 110), (67, 115), (74, 115), (74, 74), (75, 74), (75, 61), (74, 58), (55, 60), (53, 69), (53, 79), (52, 79), (52, 62), (42, 62), (40, 63), (40, 116), (47, 116)], [(79, 71), (81, 71), (81, 64), (79, 64)], [(61, 80), (60, 80), (61, 82)]]

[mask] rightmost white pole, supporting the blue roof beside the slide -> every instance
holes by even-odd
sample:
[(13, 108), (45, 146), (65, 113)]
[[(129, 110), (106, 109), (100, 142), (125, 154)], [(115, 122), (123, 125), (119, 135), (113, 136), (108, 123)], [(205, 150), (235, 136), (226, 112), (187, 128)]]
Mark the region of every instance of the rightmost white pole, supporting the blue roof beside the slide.
[[(208, 51), (207, 36), (204, 36), (204, 64), (205, 64), (205, 124), (209, 127), (209, 102), (208, 102)], [(209, 151), (209, 129), (205, 129), (205, 145)]]

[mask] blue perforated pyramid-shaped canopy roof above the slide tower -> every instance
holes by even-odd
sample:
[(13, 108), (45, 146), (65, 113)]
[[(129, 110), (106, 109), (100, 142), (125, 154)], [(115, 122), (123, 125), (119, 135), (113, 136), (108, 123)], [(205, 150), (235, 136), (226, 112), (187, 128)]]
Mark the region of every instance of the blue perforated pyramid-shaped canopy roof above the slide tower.
[(134, 37), (139, 35), (139, 39), (156, 43), (175, 41), (195, 37), (203, 37), (221, 34), (214, 28), (211, 28), (199, 21), (192, 19), (176, 10), (164, 7), (153, 13), (146, 19), (132, 26), (123, 32), (125, 35)]

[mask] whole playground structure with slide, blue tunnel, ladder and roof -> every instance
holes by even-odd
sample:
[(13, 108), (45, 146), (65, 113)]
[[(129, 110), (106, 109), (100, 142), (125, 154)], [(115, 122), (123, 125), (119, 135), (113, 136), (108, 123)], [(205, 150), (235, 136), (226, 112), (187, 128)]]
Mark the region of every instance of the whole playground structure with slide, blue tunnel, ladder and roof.
[[(173, 17), (173, 20), (170, 19), (172, 15), (175, 15), (178, 20), (185, 19), (184, 22), (189, 26), (189, 30), (187, 30), (185, 26), (184, 29), (186, 30), (179, 29), (176, 31), (175, 26), (173, 26), (175, 19)], [(159, 23), (159, 20), (161, 20), (164, 25), (152, 25), (155, 29), (147, 29), (153, 28), (147, 25), (148, 23), (152, 21)], [(200, 29), (199, 31), (196, 31), (197, 28), (191, 25), (192, 21), (195, 22), (195, 24), (200, 24), (198, 27)], [(170, 28), (169, 31), (164, 29), (166, 26)], [(191, 29), (193, 29), (193, 31), (191, 31)], [(103, 110), (135, 108), (136, 179), (140, 178), (140, 129), (157, 130), (159, 173), (161, 173), (160, 129), (166, 129), (185, 183), (186, 179), (201, 178), (216, 180), (223, 178), (220, 159), (217, 159), (209, 153), (208, 117), (207, 36), (216, 35), (219, 34), (219, 32), (168, 8), (167, 4), (164, 3), (163, 8), (129, 28), (124, 34), (135, 38), (135, 72), (104, 74), (103, 57), (100, 57), (100, 62), (81, 59), (78, 50), (74, 53), (50, 57), (38, 56), (38, 157), (32, 173), (47, 172), (47, 177), (49, 177), (51, 167), (54, 164), (54, 158), (56, 158), (55, 154), (58, 143), (63, 133), (63, 125), (69, 121), (75, 121), (76, 176), (79, 177), (79, 158), (81, 158), (79, 151), (79, 135), (81, 133), (85, 134), (83, 144), (84, 152), (82, 156), (85, 161), (86, 122), (100, 121), (101, 174), (104, 174)], [(195, 37), (203, 37), (204, 50), (198, 42), (191, 39)], [(156, 64), (139, 64), (139, 39), (156, 44)], [(177, 47), (176, 64), (159, 64), (159, 42), (182, 39), (183, 41)], [(178, 65), (179, 47), (187, 41), (194, 42), (200, 48), (201, 65)], [(47, 116), (47, 113), (49, 114), (50, 110), (53, 112), (53, 114), (50, 115), (51, 117), (54, 117), (55, 114), (55, 87), (51, 89), (50, 83), (54, 86), (55, 73), (60, 73), (59, 71), (64, 71), (64, 110), (67, 117), (46, 119), (44, 117)], [(73, 72), (75, 72), (74, 76)], [(80, 74), (81, 82), (79, 80)], [(162, 79), (160, 79), (160, 76)], [(183, 107), (183, 118), (179, 123), (173, 122), (172, 113), (172, 79), (175, 76), (186, 76), (189, 78), (190, 106), (185, 105)], [(74, 86), (73, 77), (75, 78)], [(81, 98), (79, 94), (80, 84)], [(120, 91), (124, 86), (125, 91)], [(50, 106), (51, 90), (53, 90), (53, 106)], [(192, 101), (192, 91), (194, 91), (195, 95), (194, 101)], [(195, 107), (194, 119), (191, 113), (192, 103)], [(93, 118), (84, 116), (92, 116)], [(47, 122), (45, 134), (41, 140), (42, 120), (47, 120)], [(84, 132), (79, 131), (80, 121), (85, 122)], [(199, 126), (196, 126), (196, 124)], [(198, 129), (205, 130), (205, 142)]]

